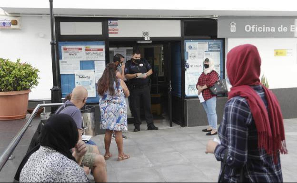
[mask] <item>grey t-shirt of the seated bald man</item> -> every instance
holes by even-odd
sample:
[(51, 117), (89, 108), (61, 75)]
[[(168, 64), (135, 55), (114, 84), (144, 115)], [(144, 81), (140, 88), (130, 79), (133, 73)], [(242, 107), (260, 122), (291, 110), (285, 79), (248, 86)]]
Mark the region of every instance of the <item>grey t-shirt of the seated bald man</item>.
[[(62, 105), (58, 111), (65, 105), (69, 105), (69, 104), (72, 104), (72, 102), (70, 102), (69, 100), (67, 100), (64, 105)], [(80, 113), (80, 110), (76, 107), (76, 106), (68, 106), (66, 107), (65, 109), (63, 109), (59, 114), (68, 114), (69, 116), (71, 116), (73, 118), (73, 120), (75, 121), (76, 123), (76, 126), (77, 126), (77, 129), (83, 129), (82, 128), (82, 116), (81, 116), (81, 113)]]

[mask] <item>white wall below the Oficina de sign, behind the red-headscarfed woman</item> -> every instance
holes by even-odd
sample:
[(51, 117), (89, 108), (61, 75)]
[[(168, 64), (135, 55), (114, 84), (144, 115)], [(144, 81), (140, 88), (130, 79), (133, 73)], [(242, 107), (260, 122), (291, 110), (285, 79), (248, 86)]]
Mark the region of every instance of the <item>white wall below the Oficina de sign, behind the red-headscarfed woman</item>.
[[(253, 44), (258, 48), (261, 75), (267, 76), (271, 89), (297, 87), (297, 38), (229, 38), (228, 51), (241, 44)], [(281, 49), (292, 49), (292, 56), (275, 57), (274, 50)]]

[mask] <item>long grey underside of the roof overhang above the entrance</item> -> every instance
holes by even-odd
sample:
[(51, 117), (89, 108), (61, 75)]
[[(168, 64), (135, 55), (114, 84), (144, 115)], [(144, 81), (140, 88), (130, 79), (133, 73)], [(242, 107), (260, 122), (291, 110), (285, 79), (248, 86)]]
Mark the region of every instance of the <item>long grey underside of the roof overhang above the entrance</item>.
[[(8, 15), (49, 15), (49, 8), (1, 7)], [(56, 16), (95, 17), (216, 17), (216, 16), (297, 16), (297, 11), (178, 10), (178, 9), (90, 9), (55, 8)]]

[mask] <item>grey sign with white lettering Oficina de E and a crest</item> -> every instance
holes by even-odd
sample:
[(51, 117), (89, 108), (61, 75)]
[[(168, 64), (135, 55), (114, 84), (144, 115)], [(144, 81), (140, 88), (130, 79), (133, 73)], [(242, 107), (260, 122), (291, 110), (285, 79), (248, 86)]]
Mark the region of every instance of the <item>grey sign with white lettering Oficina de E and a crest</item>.
[(297, 37), (297, 17), (220, 16), (218, 37)]

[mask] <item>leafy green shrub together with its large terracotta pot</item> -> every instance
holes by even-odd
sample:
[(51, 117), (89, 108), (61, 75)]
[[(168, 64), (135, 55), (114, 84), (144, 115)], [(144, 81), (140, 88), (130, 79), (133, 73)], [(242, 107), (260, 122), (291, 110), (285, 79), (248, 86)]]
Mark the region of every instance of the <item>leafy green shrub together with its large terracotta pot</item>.
[(29, 93), (38, 85), (39, 70), (20, 59), (0, 58), (0, 120), (26, 117)]

